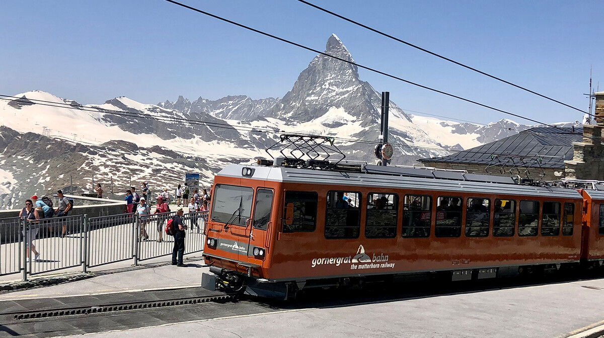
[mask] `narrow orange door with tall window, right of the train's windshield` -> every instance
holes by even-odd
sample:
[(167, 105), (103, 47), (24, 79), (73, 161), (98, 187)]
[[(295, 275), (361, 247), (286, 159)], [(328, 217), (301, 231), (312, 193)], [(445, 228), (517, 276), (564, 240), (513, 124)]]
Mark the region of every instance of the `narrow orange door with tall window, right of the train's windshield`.
[(272, 232), (272, 202), (274, 190), (258, 188), (254, 200), (254, 210), (250, 219), (248, 257), (263, 260), (270, 245), (269, 234)]

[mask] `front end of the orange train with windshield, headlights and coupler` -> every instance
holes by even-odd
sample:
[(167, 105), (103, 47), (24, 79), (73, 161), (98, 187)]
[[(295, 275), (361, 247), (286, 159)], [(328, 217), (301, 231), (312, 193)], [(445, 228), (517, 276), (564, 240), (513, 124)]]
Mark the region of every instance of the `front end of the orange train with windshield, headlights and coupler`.
[(271, 175), (279, 173), (279, 168), (228, 165), (214, 177), (205, 229), (204, 257), (211, 272), (202, 275), (206, 289), (287, 298), (284, 284), (263, 283), (280, 219), (281, 183)]

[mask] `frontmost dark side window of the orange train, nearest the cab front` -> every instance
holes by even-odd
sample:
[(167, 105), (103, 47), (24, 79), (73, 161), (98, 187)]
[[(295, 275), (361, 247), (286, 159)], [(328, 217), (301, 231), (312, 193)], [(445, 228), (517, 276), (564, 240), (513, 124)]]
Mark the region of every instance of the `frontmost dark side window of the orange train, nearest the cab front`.
[(286, 224), (283, 219), (283, 232), (315, 231), (316, 206), (319, 196), (310, 191), (286, 191), (283, 214), (289, 203), (294, 205), (292, 224)]

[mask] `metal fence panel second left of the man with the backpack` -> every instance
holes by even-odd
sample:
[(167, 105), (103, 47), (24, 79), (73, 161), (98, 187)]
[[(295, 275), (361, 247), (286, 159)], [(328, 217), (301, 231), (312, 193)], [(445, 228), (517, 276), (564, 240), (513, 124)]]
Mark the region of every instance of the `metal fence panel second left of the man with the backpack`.
[(88, 219), (86, 266), (100, 266), (132, 259), (135, 214), (118, 214)]

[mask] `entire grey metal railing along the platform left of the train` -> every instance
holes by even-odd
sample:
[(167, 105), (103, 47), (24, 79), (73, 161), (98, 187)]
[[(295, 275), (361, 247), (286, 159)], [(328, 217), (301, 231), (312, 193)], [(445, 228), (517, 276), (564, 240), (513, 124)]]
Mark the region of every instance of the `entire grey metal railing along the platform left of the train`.
[[(120, 261), (138, 261), (172, 255), (174, 237), (165, 234), (167, 220), (176, 212), (144, 215), (88, 215), (25, 220), (0, 218), (0, 276), (28, 275)], [(184, 214), (185, 255), (204, 249), (207, 211)]]

